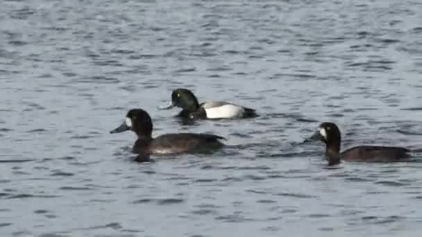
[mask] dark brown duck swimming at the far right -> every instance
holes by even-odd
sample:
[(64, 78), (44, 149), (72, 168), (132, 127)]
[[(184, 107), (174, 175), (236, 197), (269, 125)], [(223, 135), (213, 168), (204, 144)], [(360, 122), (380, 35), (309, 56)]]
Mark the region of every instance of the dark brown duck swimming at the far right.
[(305, 141), (326, 143), (328, 165), (337, 165), (343, 161), (388, 162), (410, 157), (410, 150), (396, 146), (355, 146), (340, 152), (341, 133), (335, 123), (324, 122), (318, 130)]

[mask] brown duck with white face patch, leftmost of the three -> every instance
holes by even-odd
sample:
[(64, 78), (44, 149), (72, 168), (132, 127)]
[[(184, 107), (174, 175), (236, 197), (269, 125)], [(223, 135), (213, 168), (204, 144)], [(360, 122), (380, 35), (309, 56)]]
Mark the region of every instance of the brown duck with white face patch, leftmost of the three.
[(123, 123), (110, 133), (133, 131), (137, 140), (132, 152), (137, 154), (135, 161), (149, 161), (150, 155), (176, 155), (183, 153), (212, 152), (223, 147), (224, 137), (204, 133), (162, 134), (153, 138), (151, 116), (144, 109), (130, 109)]

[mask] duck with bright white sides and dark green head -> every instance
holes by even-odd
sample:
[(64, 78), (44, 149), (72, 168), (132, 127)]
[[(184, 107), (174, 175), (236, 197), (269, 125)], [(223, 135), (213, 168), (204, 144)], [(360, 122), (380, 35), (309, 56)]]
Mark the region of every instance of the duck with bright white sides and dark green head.
[(171, 103), (167, 109), (172, 107), (182, 108), (177, 116), (183, 119), (241, 119), (258, 116), (255, 109), (225, 101), (199, 103), (194, 93), (184, 88), (171, 92)]

